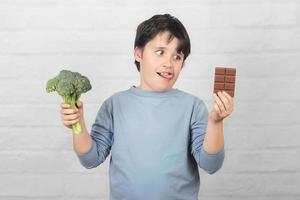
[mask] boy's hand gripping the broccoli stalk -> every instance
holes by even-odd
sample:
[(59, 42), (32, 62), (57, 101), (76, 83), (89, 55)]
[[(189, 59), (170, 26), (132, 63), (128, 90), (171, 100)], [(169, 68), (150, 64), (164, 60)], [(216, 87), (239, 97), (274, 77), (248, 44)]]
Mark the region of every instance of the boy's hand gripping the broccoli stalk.
[(81, 101), (77, 101), (77, 108), (70, 108), (69, 104), (62, 103), (60, 116), (63, 124), (72, 128), (72, 125), (80, 122), (81, 126), (83, 126), (83, 103)]

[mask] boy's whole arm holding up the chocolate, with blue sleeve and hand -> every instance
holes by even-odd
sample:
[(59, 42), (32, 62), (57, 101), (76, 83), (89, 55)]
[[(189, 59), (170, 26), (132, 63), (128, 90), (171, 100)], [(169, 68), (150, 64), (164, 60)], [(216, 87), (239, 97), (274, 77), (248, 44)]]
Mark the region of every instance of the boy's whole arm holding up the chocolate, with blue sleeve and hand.
[[(214, 107), (218, 106), (217, 102), (220, 101), (220, 98), (215, 98)], [(228, 106), (227, 108), (228, 113), (221, 116), (217, 108), (208, 113), (203, 102), (196, 103), (193, 109), (191, 151), (199, 167), (209, 174), (218, 171), (224, 161), (223, 119), (232, 112), (232, 108), (231, 111)]]

